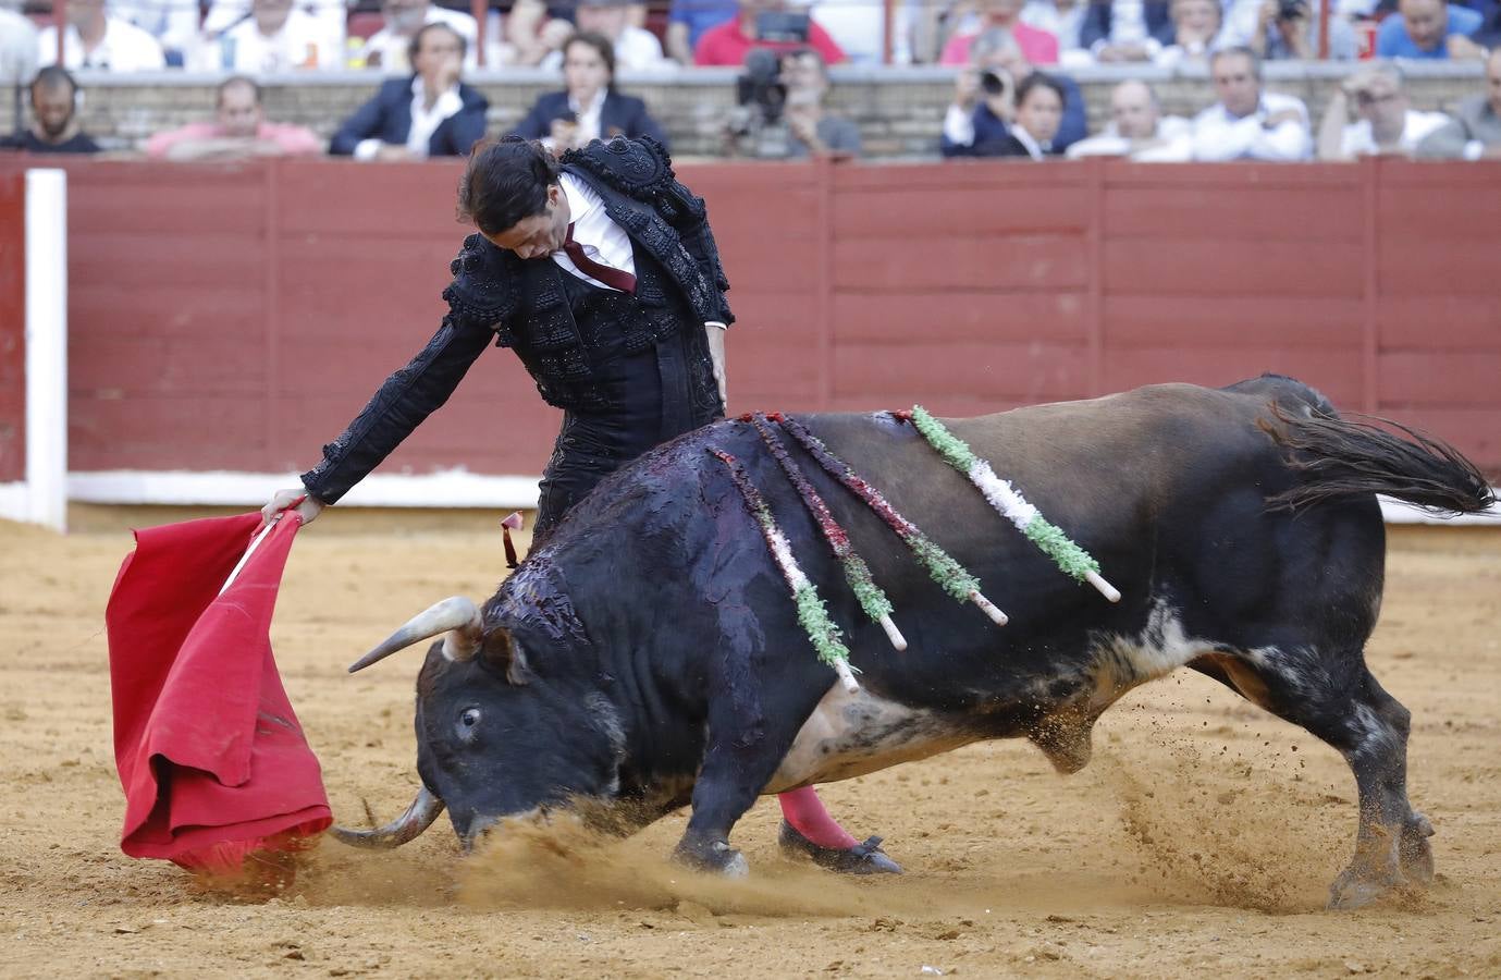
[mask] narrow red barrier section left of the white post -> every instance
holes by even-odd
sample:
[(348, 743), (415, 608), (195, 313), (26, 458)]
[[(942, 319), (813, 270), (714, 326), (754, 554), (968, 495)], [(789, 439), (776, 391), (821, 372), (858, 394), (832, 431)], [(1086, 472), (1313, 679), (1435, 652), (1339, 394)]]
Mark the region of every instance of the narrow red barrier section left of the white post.
[(26, 174), (0, 173), (0, 483), (26, 479)]

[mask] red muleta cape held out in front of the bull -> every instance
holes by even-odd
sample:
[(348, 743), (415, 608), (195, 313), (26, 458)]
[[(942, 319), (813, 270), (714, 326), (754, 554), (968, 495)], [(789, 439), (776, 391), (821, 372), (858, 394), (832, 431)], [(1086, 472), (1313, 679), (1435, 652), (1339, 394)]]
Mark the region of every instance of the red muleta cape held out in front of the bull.
[(333, 822), (269, 636), (300, 518), (287, 512), (218, 594), (260, 522), (248, 513), (137, 531), (110, 593), (120, 849), (131, 857), (233, 873)]

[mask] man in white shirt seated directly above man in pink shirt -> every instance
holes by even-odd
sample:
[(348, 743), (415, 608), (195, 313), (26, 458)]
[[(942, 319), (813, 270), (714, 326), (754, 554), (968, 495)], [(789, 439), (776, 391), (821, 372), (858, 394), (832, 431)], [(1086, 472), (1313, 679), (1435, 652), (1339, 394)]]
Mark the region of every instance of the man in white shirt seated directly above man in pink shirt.
[(198, 71), (246, 75), (342, 65), (342, 30), (333, 33), (293, 0), (252, 0), (246, 20), (218, 38), (206, 35), (192, 57)]

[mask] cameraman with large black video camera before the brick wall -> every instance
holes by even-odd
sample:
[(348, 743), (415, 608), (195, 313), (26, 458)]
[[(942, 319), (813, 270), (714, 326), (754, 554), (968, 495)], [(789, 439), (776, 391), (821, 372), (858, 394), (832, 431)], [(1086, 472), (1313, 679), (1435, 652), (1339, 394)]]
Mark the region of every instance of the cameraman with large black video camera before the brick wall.
[(752, 51), (726, 126), (729, 156), (763, 161), (860, 156), (860, 128), (824, 111), (829, 69), (812, 48)]

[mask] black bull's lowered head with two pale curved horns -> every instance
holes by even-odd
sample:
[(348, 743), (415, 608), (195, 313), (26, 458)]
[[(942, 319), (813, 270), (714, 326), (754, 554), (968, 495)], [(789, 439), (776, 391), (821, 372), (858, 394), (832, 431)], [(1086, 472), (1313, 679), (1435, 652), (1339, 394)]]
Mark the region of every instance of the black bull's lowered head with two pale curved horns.
[[(533, 669), (522, 641), (486, 626), (468, 599), (419, 614), (350, 671), (440, 635), (417, 677), (417, 798), (384, 827), (335, 827), (336, 837), (399, 846), (446, 806), (468, 849), (497, 819), (615, 794), (623, 738), (594, 671)], [(537, 662), (579, 666), (567, 656)]]

